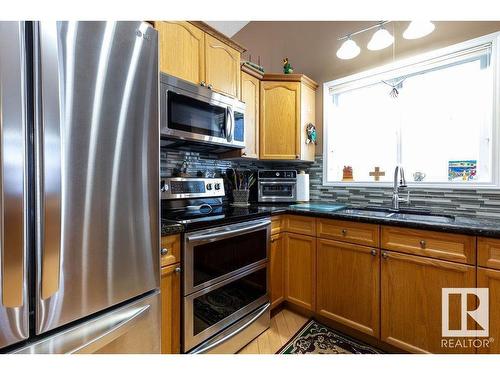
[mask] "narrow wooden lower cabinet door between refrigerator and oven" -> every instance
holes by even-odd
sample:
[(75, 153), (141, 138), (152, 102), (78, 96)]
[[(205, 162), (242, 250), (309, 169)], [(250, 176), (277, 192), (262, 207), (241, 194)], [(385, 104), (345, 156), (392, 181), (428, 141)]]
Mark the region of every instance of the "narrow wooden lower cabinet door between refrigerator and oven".
[(161, 352), (176, 354), (181, 347), (180, 265), (161, 269)]

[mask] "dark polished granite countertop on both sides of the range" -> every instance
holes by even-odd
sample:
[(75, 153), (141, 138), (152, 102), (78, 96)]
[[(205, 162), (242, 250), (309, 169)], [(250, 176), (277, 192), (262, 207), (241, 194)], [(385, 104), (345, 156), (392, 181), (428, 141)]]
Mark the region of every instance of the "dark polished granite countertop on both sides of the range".
[[(344, 208), (347, 208), (344, 210)], [(349, 210), (352, 209), (352, 210)], [(455, 216), (453, 218), (418, 218), (411, 214), (397, 214), (391, 217), (383, 216), (377, 212), (356, 212), (357, 207), (346, 207), (335, 203), (311, 202), (310, 204), (254, 204), (248, 208), (228, 208), (226, 218), (217, 221), (217, 225), (230, 221), (241, 221), (256, 217), (280, 214), (295, 214), (314, 217), (323, 217), (338, 220), (349, 220), (363, 223), (392, 225), (415, 229), (427, 229), (450, 233), (462, 233), (475, 236), (500, 238), (500, 219), (483, 219)], [(181, 233), (186, 230), (196, 229), (192, 225), (181, 225), (162, 221), (162, 236)]]

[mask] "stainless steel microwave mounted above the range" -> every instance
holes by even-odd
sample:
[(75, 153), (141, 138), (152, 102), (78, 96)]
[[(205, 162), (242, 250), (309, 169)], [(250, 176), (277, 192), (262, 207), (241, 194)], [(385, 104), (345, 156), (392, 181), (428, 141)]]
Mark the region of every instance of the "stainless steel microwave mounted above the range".
[(163, 73), (160, 95), (162, 138), (245, 147), (245, 103)]

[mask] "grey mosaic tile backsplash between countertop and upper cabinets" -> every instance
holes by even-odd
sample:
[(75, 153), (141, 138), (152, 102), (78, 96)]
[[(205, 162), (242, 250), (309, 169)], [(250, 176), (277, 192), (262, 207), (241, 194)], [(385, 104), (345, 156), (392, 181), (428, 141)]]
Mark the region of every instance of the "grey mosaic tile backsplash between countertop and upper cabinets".
[[(311, 200), (346, 203), (353, 206), (368, 204), (390, 205), (390, 187), (331, 187), (323, 186), (323, 157), (316, 156), (314, 163), (264, 162), (250, 160), (220, 160), (216, 155), (162, 149), (161, 175), (171, 176), (175, 168), (187, 162), (188, 172), (215, 173), (228, 168), (257, 170), (262, 168), (293, 168), (309, 173)], [(500, 220), (500, 190), (466, 189), (410, 189), (411, 206), (430, 208), (440, 213)], [(500, 222), (499, 222), (500, 225)]]

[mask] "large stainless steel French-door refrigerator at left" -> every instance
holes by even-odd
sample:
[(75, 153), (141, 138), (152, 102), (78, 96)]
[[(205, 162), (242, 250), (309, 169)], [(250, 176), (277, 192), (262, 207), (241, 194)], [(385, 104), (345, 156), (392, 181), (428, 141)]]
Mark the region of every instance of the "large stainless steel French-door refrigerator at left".
[(158, 353), (157, 32), (0, 22), (0, 351)]

